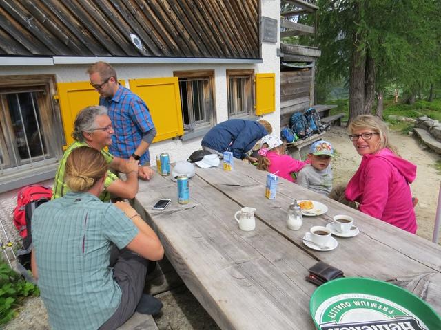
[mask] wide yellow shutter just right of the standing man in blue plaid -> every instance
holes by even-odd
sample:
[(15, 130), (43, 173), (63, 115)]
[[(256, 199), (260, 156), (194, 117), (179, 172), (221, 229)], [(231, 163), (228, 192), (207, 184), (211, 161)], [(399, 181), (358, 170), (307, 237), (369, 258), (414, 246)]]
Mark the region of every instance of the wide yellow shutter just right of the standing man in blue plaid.
[(177, 77), (130, 79), (130, 90), (147, 104), (156, 128), (153, 142), (184, 134)]

